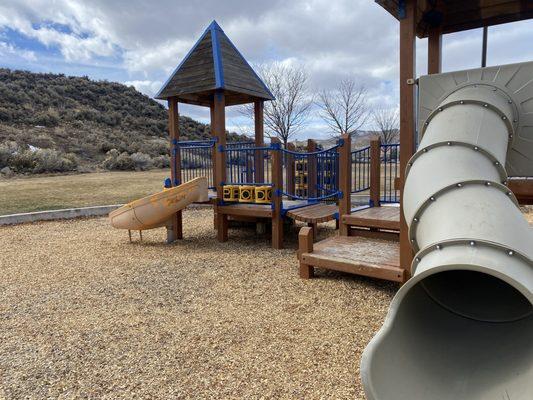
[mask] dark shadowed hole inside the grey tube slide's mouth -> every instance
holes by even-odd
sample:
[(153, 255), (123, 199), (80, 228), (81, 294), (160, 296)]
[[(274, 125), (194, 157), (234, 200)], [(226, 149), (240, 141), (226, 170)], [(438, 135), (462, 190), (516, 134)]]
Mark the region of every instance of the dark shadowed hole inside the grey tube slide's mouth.
[(476, 321), (509, 322), (533, 314), (533, 305), (509, 283), (483, 272), (453, 270), (420, 283), (439, 305)]

